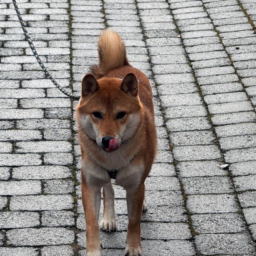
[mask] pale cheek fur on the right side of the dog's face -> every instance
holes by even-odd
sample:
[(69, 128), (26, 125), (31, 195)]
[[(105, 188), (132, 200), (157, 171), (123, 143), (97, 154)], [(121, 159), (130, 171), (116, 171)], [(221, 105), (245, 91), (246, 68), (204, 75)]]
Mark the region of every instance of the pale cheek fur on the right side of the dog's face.
[(140, 112), (129, 114), (126, 125), (122, 127), (120, 134), (122, 134), (122, 141), (129, 140), (135, 134), (140, 125), (141, 115)]

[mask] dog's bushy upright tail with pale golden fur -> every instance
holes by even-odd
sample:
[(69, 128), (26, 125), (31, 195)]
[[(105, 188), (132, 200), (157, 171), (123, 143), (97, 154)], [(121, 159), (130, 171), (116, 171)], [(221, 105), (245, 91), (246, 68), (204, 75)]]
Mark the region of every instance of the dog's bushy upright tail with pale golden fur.
[(113, 30), (105, 29), (98, 40), (99, 64), (92, 66), (96, 78), (101, 78), (108, 71), (129, 65), (122, 38)]

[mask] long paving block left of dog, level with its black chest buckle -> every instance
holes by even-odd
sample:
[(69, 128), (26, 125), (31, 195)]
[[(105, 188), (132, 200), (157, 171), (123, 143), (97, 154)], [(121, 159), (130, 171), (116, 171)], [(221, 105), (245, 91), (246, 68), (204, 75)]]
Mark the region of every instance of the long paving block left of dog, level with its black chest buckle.
[(72, 172), (66, 166), (22, 166), (12, 170), (12, 178), (17, 180), (61, 179), (71, 176)]

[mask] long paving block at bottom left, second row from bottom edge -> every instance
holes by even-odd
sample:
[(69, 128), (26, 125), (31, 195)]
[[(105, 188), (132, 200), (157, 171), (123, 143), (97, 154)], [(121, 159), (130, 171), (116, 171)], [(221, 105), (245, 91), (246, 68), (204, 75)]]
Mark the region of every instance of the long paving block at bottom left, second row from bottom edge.
[(8, 245), (36, 246), (71, 244), (74, 242), (74, 231), (66, 228), (23, 228), (7, 232)]

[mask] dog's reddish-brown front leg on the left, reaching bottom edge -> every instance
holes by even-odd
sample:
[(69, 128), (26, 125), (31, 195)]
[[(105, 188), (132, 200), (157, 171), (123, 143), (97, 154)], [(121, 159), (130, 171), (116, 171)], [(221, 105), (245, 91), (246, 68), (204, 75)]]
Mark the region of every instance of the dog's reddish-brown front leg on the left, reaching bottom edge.
[(82, 174), (82, 202), (86, 221), (86, 255), (102, 256), (102, 242), (98, 219), (100, 212), (100, 186), (90, 186)]

